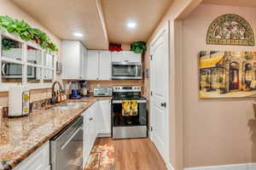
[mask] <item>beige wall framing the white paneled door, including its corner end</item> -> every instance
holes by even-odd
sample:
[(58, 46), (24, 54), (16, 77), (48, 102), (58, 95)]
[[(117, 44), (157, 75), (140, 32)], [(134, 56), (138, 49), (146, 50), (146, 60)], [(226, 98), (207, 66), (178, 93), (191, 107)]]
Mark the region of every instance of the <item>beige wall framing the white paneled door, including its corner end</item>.
[[(170, 129), (171, 129), (171, 141), (170, 141), (170, 163), (176, 170), (183, 169), (183, 82), (181, 80), (182, 60), (178, 56), (181, 50), (179, 50), (180, 42), (178, 40), (181, 35), (181, 24), (176, 22), (177, 15), (188, 14), (188, 11), (195, 8), (201, 0), (175, 0), (172, 6), (168, 9), (164, 18), (160, 21), (160, 24), (155, 28), (152, 36), (147, 41), (148, 50), (144, 56), (144, 68), (150, 67), (150, 42), (154, 39), (155, 35), (160, 29), (170, 21)], [(185, 10), (184, 10), (185, 9)], [(185, 15), (183, 14), (183, 15)], [(175, 23), (175, 24), (174, 24)], [(144, 93), (149, 99), (150, 97), (150, 80), (145, 78), (144, 80)], [(168, 165), (169, 166), (169, 165)]]

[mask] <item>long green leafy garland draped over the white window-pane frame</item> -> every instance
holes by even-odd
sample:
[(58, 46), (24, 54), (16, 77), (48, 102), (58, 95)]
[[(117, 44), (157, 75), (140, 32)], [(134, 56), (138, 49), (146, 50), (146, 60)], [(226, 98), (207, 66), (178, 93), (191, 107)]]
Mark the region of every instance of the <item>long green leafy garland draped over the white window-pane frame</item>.
[(44, 31), (32, 28), (24, 20), (13, 20), (9, 16), (0, 16), (0, 28), (5, 29), (9, 33), (19, 35), (22, 40), (34, 41), (38, 43), (41, 48), (47, 49), (51, 52), (58, 51), (55, 43), (50, 41)]

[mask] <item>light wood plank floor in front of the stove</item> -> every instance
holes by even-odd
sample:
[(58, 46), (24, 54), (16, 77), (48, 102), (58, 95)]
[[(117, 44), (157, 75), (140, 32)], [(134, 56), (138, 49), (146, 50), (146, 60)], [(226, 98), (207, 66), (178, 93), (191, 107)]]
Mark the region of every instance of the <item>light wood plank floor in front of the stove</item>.
[(96, 139), (96, 144), (113, 144), (115, 170), (166, 170), (166, 164), (150, 139)]

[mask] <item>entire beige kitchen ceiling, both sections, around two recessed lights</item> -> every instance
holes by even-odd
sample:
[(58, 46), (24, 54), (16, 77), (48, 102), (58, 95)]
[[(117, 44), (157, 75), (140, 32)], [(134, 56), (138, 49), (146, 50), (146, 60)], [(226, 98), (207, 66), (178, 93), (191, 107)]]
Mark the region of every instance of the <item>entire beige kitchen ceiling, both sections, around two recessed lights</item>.
[[(89, 49), (147, 41), (173, 0), (11, 0), (61, 39)], [(137, 23), (128, 29), (127, 22)], [(74, 37), (80, 32), (84, 37)]]

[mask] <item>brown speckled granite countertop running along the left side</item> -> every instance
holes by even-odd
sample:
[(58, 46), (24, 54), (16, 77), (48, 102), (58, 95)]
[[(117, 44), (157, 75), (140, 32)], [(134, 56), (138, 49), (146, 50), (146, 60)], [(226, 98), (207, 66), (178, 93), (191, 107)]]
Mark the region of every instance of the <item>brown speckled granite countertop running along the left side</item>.
[(36, 110), (20, 118), (0, 118), (0, 170), (9, 170), (30, 156), (45, 142), (59, 133), (70, 122), (80, 116), (96, 100), (111, 99), (97, 97), (73, 110)]

